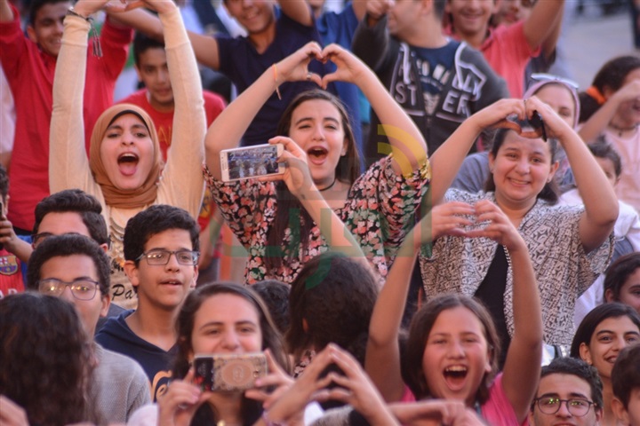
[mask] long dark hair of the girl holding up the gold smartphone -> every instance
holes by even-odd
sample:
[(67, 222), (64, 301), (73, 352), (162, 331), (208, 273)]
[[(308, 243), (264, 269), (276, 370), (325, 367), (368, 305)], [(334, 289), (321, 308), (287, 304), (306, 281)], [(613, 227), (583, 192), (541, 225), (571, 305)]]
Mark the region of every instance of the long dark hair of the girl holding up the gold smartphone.
[[(284, 351), (282, 336), (269, 315), (268, 308), (251, 288), (235, 283), (217, 282), (205, 284), (193, 290), (185, 299), (176, 319), (176, 331), (178, 332), (178, 353), (173, 364), (173, 377), (184, 377), (190, 367), (189, 354), (192, 353), (191, 334), (193, 333), (196, 313), (204, 304), (204, 301), (213, 296), (233, 295), (238, 296), (252, 304), (260, 318), (260, 332), (262, 334), (262, 349), (268, 349), (273, 354), (276, 362), (290, 371), (289, 359)], [(262, 413), (260, 402), (243, 396), (241, 414), (243, 424), (251, 425), (257, 422)], [(203, 404), (196, 411), (192, 426), (208, 426), (216, 424), (220, 418), (210, 404)]]

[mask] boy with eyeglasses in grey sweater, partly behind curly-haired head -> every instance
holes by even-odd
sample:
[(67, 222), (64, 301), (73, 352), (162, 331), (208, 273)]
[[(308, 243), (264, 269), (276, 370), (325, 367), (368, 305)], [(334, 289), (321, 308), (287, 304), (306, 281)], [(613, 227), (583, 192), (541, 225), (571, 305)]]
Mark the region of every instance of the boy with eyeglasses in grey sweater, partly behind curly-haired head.
[[(108, 312), (109, 278), (104, 249), (84, 235), (67, 233), (46, 238), (34, 250), (27, 288), (73, 304), (92, 339), (98, 319)], [(132, 359), (92, 343), (96, 357), (92, 395), (88, 396), (92, 410), (99, 424), (127, 422), (138, 407), (150, 401), (147, 376)]]

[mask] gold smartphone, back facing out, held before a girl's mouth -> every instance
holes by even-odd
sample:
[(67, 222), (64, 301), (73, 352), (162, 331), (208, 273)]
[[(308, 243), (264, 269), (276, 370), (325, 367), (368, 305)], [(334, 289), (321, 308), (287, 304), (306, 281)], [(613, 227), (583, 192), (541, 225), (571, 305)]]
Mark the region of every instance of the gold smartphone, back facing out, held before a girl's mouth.
[(196, 386), (218, 392), (252, 389), (256, 379), (268, 373), (267, 357), (262, 352), (196, 354), (194, 369)]

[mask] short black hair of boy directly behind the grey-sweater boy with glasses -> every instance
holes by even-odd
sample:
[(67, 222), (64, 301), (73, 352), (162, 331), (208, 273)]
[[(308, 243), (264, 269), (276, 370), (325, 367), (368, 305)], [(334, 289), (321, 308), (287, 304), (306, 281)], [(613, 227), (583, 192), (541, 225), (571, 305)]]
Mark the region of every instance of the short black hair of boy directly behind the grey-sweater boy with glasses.
[(36, 205), (36, 223), (33, 233), (39, 231), (40, 224), (49, 213), (77, 213), (82, 217), (92, 239), (98, 244), (109, 244), (107, 223), (102, 217), (100, 201), (80, 189), (65, 189), (52, 193)]

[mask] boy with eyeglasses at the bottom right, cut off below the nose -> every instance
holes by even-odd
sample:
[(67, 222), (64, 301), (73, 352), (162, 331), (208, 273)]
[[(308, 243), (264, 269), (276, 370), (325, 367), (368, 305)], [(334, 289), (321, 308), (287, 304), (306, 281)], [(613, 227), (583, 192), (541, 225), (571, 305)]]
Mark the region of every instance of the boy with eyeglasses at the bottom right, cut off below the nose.
[(581, 359), (557, 358), (542, 367), (529, 424), (594, 426), (602, 418), (602, 381)]

